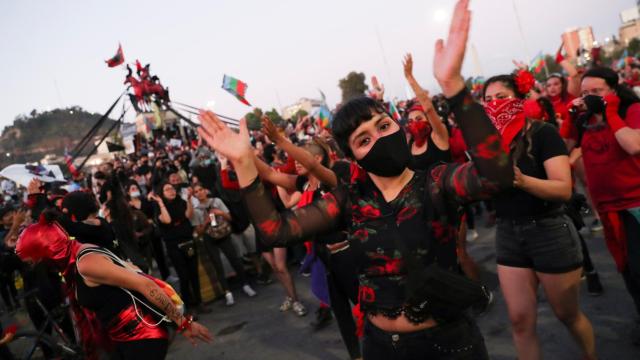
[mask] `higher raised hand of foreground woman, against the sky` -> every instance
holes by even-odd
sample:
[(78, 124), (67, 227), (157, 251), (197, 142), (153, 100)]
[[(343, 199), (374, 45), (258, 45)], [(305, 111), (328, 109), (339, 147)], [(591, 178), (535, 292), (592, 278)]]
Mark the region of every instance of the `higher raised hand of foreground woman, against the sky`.
[(470, 24), (469, 0), (458, 0), (453, 11), (446, 42), (442, 39), (436, 41), (433, 75), (438, 80), (442, 93), (446, 97), (456, 95), (465, 86), (461, 69), (469, 38)]

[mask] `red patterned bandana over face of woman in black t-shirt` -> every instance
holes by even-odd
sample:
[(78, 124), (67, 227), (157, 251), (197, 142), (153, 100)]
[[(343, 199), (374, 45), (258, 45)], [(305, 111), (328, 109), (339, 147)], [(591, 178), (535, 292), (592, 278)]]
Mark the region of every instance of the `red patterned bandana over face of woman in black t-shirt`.
[(524, 100), (496, 99), (484, 104), (484, 111), (502, 135), (502, 147), (508, 153), (511, 141), (525, 123)]

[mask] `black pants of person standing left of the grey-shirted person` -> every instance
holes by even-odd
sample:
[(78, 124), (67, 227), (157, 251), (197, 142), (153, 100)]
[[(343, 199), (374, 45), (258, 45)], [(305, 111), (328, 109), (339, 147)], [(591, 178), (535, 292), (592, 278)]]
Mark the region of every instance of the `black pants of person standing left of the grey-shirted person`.
[(197, 306), (202, 302), (200, 295), (200, 277), (198, 275), (198, 254), (187, 254), (178, 247), (177, 242), (167, 242), (167, 252), (178, 273), (180, 280), (180, 295), (185, 305)]

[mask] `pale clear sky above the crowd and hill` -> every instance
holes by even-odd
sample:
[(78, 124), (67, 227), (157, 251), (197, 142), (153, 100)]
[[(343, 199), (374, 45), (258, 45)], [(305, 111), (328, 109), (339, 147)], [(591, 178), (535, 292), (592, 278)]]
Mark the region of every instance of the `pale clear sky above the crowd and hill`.
[[(124, 90), (124, 66), (104, 60), (122, 43), (126, 61), (151, 63), (175, 101), (241, 117), (250, 110), (220, 85), (229, 74), (249, 85), (264, 109), (319, 97), (340, 100), (338, 80), (352, 70), (377, 75), (386, 97), (404, 98), (401, 59), (414, 54), (423, 86), (433, 45), (448, 28), (454, 0), (97, 1), (3, 0), (0, 3), (0, 128), (16, 115), (78, 105), (106, 111)], [(521, 19), (521, 35), (514, 12)], [(617, 35), (632, 0), (472, 0), (470, 45), (481, 75), (510, 72), (514, 58), (555, 53), (570, 27)], [(524, 37), (524, 38), (523, 38)], [(471, 52), (464, 75), (478, 75)], [(115, 116), (115, 115), (114, 115)]]

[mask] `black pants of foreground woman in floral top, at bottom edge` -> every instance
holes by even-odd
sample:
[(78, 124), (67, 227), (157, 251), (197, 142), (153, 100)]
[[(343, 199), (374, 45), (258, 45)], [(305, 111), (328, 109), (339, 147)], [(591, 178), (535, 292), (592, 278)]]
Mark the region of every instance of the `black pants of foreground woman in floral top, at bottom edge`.
[(489, 359), (480, 330), (471, 318), (412, 333), (390, 333), (367, 322), (363, 355), (366, 360), (484, 360)]

